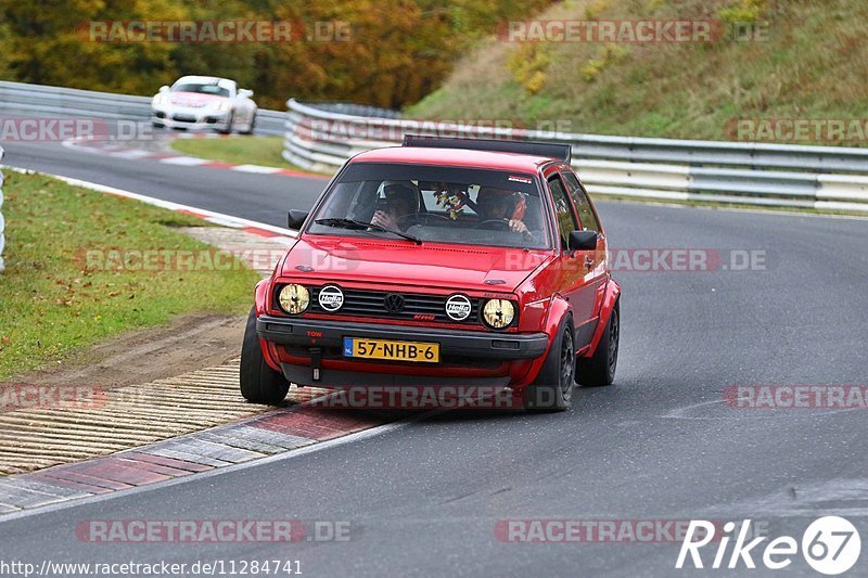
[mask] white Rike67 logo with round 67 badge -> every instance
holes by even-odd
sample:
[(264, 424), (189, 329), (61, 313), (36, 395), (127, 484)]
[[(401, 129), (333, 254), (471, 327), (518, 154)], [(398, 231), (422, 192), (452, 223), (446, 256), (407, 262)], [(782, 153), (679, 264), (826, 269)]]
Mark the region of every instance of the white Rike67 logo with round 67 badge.
[[(801, 544), (791, 536), (780, 536), (763, 544), (768, 537), (752, 537), (750, 519), (743, 521), (740, 526), (735, 522), (727, 522), (719, 535), (715, 534), (716, 529), (719, 529), (719, 524), (704, 519), (690, 521), (675, 567), (690, 568), (692, 563), (694, 568), (735, 569), (742, 568), (743, 565), (744, 568), (756, 569), (754, 557), (757, 557), (765, 568), (780, 570), (792, 564), (801, 545), (802, 556), (812, 568), (827, 576), (837, 576), (851, 569), (861, 551), (861, 540), (856, 527), (839, 516), (825, 516), (814, 521), (802, 535)], [(730, 550), (729, 544), (733, 539)], [(711, 566), (705, 566), (711, 552), (706, 551), (703, 560), (700, 550), (712, 543), (717, 547), (714, 560)], [(712, 547), (709, 550), (715, 549)]]

